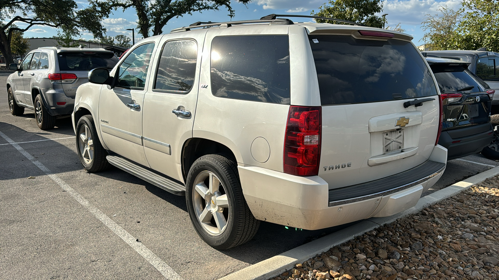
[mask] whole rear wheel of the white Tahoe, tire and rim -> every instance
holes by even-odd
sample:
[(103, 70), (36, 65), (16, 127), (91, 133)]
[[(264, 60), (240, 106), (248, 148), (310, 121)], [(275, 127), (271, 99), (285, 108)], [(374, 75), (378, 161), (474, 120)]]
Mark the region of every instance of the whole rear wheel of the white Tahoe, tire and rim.
[(187, 176), (186, 202), (198, 235), (218, 250), (250, 241), (260, 221), (251, 214), (235, 160), (226, 154), (198, 158)]

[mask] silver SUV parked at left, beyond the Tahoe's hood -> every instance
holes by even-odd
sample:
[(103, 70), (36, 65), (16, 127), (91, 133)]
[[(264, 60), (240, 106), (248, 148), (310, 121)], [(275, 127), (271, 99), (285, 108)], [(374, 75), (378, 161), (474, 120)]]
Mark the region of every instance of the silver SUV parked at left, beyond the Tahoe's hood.
[(88, 71), (112, 69), (118, 58), (112, 51), (95, 48), (41, 47), (30, 51), (7, 78), (8, 106), (14, 116), (24, 108), (35, 111), (41, 130), (55, 126), (55, 120), (73, 112), (76, 89), (88, 82)]

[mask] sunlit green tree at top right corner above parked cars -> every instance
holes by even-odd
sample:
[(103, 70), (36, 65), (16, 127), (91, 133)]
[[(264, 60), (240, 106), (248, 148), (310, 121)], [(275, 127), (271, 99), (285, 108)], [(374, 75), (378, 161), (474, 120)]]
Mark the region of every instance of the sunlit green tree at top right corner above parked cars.
[(440, 7), (422, 22), (425, 48), (499, 52), (499, 0), (463, 0), (459, 10)]

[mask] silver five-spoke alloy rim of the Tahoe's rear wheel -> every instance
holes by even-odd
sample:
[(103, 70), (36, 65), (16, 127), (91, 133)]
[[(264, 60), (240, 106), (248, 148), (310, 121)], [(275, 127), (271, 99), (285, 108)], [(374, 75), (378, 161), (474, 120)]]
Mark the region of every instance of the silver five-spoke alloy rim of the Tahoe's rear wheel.
[(212, 236), (221, 235), (229, 220), (229, 200), (215, 173), (205, 170), (194, 180), (193, 206), (203, 229)]

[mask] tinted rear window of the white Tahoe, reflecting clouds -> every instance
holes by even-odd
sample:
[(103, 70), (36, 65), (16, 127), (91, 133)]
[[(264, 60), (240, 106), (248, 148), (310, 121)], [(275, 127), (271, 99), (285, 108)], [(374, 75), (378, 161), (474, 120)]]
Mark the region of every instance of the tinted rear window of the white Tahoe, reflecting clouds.
[(322, 105), (437, 95), (430, 69), (411, 42), (309, 36)]

